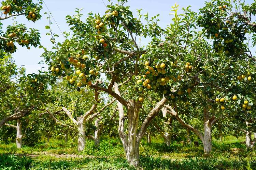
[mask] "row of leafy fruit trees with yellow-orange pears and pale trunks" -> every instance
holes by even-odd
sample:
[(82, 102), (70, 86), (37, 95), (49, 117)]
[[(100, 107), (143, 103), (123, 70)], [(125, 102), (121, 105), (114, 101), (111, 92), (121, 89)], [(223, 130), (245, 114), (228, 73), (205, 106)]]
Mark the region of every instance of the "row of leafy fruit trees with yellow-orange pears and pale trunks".
[[(94, 129), (95, 135), (88, 136), (98, 146), (104, 124), (112, 124), (118, 112), (115, 130), (133, 166), (139, 165), (139, 143), (150, 131), (158, 131), (170, 145), (173, 119), (187, 129), (187, 136), (190, 131), (198, 136), (205, 155), (212, 150), (214, 125), (220, 138), (222, 127), (244, 132), (246, 147), (252, 148), (256, 142), (256, 137), (252, 139), (256, 132), (256, 59), (250, 49), (255, 43), (256, 25), (251, 19), (255, 3), (212, 0), (199, 14), (189, 7), (179, 14), (175, 4), (172, 23), (161, 28), (158, 15), (150, 17), (138, 10), (134, 17), (126, 2), (118, 0), (114, 5), (110, 1), (105, 15), (89, 13), (86, 20), (77, 9), (76, 15), (66, 17), (72, 34), (66, 34), (62, 43), (57, 43), (51, 24), (46, 26), (54, 44), (42, 54), (49, 72), (26, 76), (10, 56), (16, 50), (12, 43), (40, 45), (37, 30), (30, 29), (29, 35), (24, 28), (18, 37), (13, 31), (19, 29), (16, 25), (0, 32), (0, 104), (4, 108), (0, 126), (12, 126), (6, 123), (18, 120), (12, 127), (17, 129), (20, 146), (19, 119), (39, 110), (41, 116), (61, 125), (66, 136), (75, 130), (82, 151), (86, 132)], [(8, 5), (14, 11), (1, 20), (25, 15), (36, 21), (41, 17), (40, 4), (2, 2), (3, 11)], [(138, 41), (143, 38), (150, 39), (146, 46)], [(188, 121), (193, 119), (198, 120), (197, 127)], [(85, 126), (93, 120), (94, 128)]]

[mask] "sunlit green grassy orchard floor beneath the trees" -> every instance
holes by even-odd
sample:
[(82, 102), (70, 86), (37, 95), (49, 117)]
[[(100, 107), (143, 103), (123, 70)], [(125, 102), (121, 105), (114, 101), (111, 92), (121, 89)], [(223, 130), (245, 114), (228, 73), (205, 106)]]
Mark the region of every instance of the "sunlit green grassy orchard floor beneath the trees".
[[(137, 169), (256, 169), (256, 150), (246, 151), (243, 139), (226, 137), (213, 141), (213, 152), (204, 157), (202, 145), (173, 142), (167, 147), (158, 138), (142, 141)], [(15, 143), (0, 145), (0, 169), (136, 169), (126, 162), (118, 138), (103, 138), (99, 148), (87, 141), (85, 151), (76, 150), (75, 141), (51, 139), (34, 147), (17, 149)]]

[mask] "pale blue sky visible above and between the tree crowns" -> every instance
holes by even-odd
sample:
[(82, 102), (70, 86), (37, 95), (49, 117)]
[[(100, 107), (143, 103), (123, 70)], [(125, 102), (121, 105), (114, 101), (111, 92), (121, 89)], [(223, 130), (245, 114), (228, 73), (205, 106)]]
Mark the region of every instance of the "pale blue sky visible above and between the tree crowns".
[[(103, 0), (106, 5), (108, 5), (107, 0)], [(207, 0), (209, 1), (209, 0)], [(94, 13), (104, 14), (106, 7), (103, 4), (102, 0), (44, 0), (49, 10), (53, 14), (55, 20), (57, 21), (62, 32), (69, 32), (68, 24), (66, 23), (65, 17), (67, 15), (73, 15), (75, 8), (84, 8), (83, 14), (84, 18), (87, 16), (88, 12), (93, 11)], [(143, 9), (142, 14), (149, 13), (150, 16), (155, 16), (160, 14), (159, 25), (162, 28), (165, 28), (168, 24), (171, 23), (172, 15), (169, 15), (171, 12), (171, 6), (175, 3), (182, 7), (191, 6), (191, 10), (198, 11), (199, 8), (203, 7), (205, 0), (128, 0), (128, 5), (131, 6), (131, 11), (136, 14), (137, 9)], [(253, 0), (246, 0), (246, 3), (252, 3)], [(48, 25), (48, 20), (46, 19), (47, 15), (44, 13), (47, 12), (47, 8), (43, 4), (43, 10), (41, 12), (42, 19), (35, 23), (29, 22), (24, 16), (18, 16), (16, 20), (18, 23), (24, 23), (28, 28), (38, 29), (41, 33), (41, 45), (47, 48), (52, 47), (52, 43), (49, 41), (50, 37), (46, 36), (48, 30), (45, 30), (45, 26)], [(180, 10), (180, 12), (182, 12)], [(135, 16), (135, 15), (134, 15)], [(3, 20), (3, 28), (5, 26), (12, 24), (13, 20)], [(53, 32), (59, 35), (57, 41), (61, 42), (64, 40), (63, 36), (56, 24), (53, 23)], [(3, 29), (4, 31), (4, 29)], [(143, 43), (143, 42), (142, 42)], [(30, 50), (18, 46), (18, 50), (13, 54), (15, 58), (15, 63), (18, 66), (24, 65), (27, 69), (26, 73), (36, 73), (41, 69), (38, 64), (44, 58), (40, 57), (43, 53), (42, 49), (31, 47)]]

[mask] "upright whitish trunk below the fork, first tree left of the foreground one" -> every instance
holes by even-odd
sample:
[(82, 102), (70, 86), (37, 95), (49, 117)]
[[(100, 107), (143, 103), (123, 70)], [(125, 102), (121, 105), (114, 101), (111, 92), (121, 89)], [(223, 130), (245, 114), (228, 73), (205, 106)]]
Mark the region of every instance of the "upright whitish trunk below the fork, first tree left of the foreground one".
[(85, 136), (85, 128), (84, 128), (84, 120), (83, 115), (77, 117), (77, 129), (78, 129), (78, 151), (83, 151), (86, 144), (86, 136)]

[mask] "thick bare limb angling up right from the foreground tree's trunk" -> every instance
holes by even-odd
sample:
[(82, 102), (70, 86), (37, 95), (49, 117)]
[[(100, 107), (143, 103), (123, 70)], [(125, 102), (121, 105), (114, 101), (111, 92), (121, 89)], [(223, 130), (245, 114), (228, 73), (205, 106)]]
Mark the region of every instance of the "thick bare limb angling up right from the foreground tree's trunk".
[(143, 121), (143, 123), (141, 124), (141, 129), (140, 132), (138, 134), (138, 141), (140, 141), (142, 139), (142, 137), (144, 136), (148, 125), (150, 124), (150, 122), (152, 121), (152, 119), (155, 118), (155, 116), (158, 114), (158, 112), (161, 110), (161, 108), (165, 105), (165, 103), (167, 102), (167, 98), (163, 97), (162, 100), (160, 100), (157, 105), (150, 111), (150, 113), (148, 113), (146, 119)]

